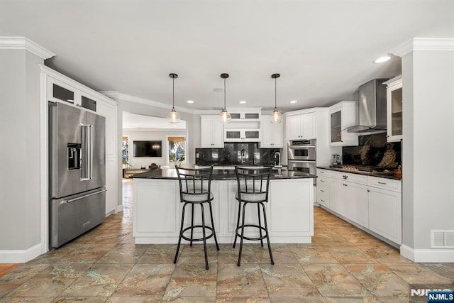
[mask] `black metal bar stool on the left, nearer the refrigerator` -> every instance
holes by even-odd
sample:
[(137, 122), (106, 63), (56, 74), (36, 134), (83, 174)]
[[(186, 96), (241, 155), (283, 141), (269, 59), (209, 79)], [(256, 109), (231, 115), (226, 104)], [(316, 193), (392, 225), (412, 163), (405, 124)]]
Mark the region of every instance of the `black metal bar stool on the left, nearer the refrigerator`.
[[(204, 241), (204, 252), (205, 252), (205, 268), (208, 270), (208, 258), (206, 256), (206, 240), (214, 236), (214, 242), (216, 248), (219, 250), (218, 240), (216, 239), (216, 231), (214, 231), (213, 211), (211, 209), (211, 201), (214, 199), (213, 193), (211, 192), (211, 176), (213, 175), (213, 167), (209, 168), (198, 168), (189, 169), (181, 168), (175, 165), (177, 170), (178, 181), (179, 181), (179, 197), (180, 201), (184, 203), (182, 211), (182, 224), (179, 228), (179, 238), (177, 253), (175, 253), (175, 259), (173, 263), (177, 263), (179, 246), (184, 240), (189, 241), (189, 245), (192, 246), (192, 242)], [(184, 225), (184, 211), (186, 206), (191, 205), (191, 225), (183, 228)], [(194, 225), (194, 204), (199, 204), (201, 207), (201, 225)], [(205, 212), (204, 204), (208, 204), (210, 209), (211, 226), (205, 225)], [(201, 238), (194, 238), (194, 228), (201, 229)], [(191, 231), (190, 236), (184, 236), (185, 231)], [(209, 230), (209, 234), (206, 235), (206, 230)]]

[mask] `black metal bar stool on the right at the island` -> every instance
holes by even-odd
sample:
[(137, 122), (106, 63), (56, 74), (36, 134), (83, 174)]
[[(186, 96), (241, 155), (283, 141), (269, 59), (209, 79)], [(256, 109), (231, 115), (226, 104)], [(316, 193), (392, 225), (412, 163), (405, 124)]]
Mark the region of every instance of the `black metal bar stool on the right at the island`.
[[(240, 237), (240, 253), (238, 254), (238, 263), (240, 266), (241, 252), (243, 251), (243, 239), (258, 241), (263, 247), (263, 239), (267, 239), (268, 251), (270, 252), (271, 264), (274, 265), (275, 261), (272, 259), (270, 238), (268, 237), (267, 215), (265, 211), (265, 204), (268, 202), (268, 189), (270, 187), (270, 172), (271, 167), (265, 168), (242, 168), (235, 167), (236, 180), (238, 182), (238, 191), (236, 192), (236, 199), (238, 200), (238, 220), (236, 221), (235, 241), (233, 241), (233, 248), (236, 245), (236, 238)], [(258, 211), (258, 224), (245, 224), (245, 209), (248, 204), (256, 204)], [(263, 225), (260, 219), (260, 206), (263, 211)], [(243, 207), (243, 214), (241, 215), (241, 208)], [(241, 224), (240, 224), (241, 216)], [(245, 227), (258, 228), (260, 236), (249, 237), (244, 235)]]

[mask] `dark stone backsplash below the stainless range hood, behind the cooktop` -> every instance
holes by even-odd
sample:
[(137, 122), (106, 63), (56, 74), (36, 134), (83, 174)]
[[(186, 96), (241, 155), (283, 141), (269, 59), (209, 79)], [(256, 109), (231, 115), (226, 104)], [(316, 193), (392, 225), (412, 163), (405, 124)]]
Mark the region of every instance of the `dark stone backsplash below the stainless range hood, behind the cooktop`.
[(387, 142), (386, 133), (359, 136), (358, 146), (343, 146), (344, 165), (372, 165), (396, 168), (402, 165), (401, 142)]

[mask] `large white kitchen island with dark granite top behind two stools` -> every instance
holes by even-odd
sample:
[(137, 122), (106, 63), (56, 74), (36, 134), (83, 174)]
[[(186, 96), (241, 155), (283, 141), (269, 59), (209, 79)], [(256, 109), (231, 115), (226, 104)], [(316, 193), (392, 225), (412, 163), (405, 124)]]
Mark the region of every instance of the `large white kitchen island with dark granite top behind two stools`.
[[(136, 244), (177, 243), (182, 203), (175, 169), (150, 170), (133, 177), (133, 236)], [(314, 235), (314, 177), (305, 172), (273, 170), (269, 203), (265, 204), (271, 243), (311, 243)], [(214, 227), (219, 243), (233, 243), (238, 202), (235, 170), (214, 170)], [(257, 209), (246, 212), (257, 220)], [(206, 217), (209, 216), (206, 212)], [(194, 220), (201, 221), (196, 207)], [(189, 222), (184, 222), (189, 225)]]

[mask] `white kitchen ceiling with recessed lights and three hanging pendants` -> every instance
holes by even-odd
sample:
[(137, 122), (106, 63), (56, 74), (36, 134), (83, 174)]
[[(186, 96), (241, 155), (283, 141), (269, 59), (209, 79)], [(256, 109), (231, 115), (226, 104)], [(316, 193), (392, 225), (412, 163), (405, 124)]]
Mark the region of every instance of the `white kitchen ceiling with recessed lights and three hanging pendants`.
[(290, 111), (399, 75), (399, 57), (372, 61), (411, 38), (453, 38), (453, 16), (453, 0), (0, 0), (0, 36), (33, 40), (55, 53), (46, 65), (97, 91), (169, 106), (175, 72), (175, 107), (189, 112), (223, 107), (224, 72), (227, 107), (272, 109), (277, 72)]

